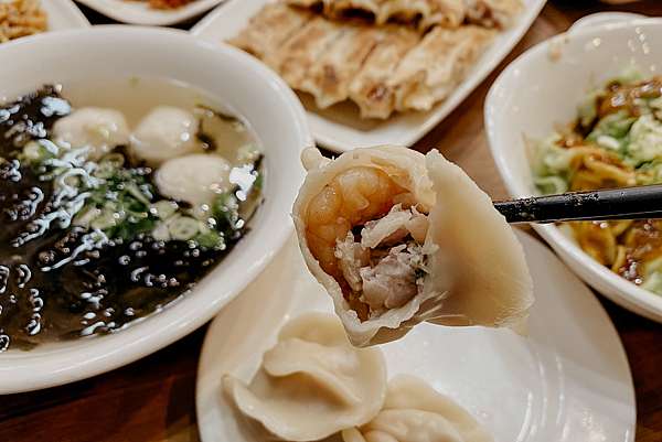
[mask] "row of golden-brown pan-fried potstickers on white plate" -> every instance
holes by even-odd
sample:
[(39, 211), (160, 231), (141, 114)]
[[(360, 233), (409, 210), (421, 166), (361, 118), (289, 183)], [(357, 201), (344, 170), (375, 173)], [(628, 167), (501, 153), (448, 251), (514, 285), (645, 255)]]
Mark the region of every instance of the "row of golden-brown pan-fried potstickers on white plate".
[[(520, 0), (291, 3), (309, 8), (267, 3), (229, 43), (261, 60), (293, 89), (311, 94), (319, 108), (351, 100), (362, 118), (378, 119), (427, 111), (448, 98), (522, 10)], [(349, 12), (360, 4), (369, 13)], [(396, 6), (407, 12), (396, 12)], [(377, 7), (387, 8), (389, 18), (414, 14), (428, 24), (382, 24), (370, 19), (384, 15)]]

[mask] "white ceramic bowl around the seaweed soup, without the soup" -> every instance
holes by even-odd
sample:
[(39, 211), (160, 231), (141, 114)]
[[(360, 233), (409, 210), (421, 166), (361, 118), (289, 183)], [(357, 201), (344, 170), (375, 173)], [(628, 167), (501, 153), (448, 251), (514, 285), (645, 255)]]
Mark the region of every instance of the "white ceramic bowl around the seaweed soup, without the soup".
[(290, 208), (303, 179), (299, 153), (312, 138), (296, 96), (253, 57), (182, 31), (115, 25), (3, 44), (0, 66), (0, 98), (95, 76), (160, 76), (196, 86), (250, 123), (263, 142), (267, 173), (265, 204), (252, 230), (192, 293), (108, 336), (0, 354), (0, 394), (93, 376), (177, 341), (239, 293), (290, 235)]

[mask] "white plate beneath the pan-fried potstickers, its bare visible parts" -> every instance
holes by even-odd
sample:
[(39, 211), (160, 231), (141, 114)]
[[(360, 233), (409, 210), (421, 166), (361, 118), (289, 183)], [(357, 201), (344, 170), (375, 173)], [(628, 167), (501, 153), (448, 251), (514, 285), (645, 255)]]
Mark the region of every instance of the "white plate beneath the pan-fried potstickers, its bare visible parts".
[[(269, 0), (228, 0), (200, 21), (191, 32), (210, 42), (218, 43), (236, 35)], [(324, 111), (308, 111), (316, 141), (335, 152), (378, 144), (409, 147), (448, 116), (496, 67), (528, 30), (545, 0), (524, 0), (526, 10), (515, 25), (503, 32), (470, 71), (465, 82), (446, 100), (428, 112), (396, 115), (385, 121), (362, 121), (353, 105), (344, 103)], [(308, 109), (312, 105), (303, 104)]]

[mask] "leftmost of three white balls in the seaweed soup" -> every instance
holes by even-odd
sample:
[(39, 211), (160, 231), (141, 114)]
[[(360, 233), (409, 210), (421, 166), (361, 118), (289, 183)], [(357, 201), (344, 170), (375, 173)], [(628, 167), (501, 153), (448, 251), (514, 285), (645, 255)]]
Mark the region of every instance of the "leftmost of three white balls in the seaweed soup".
[(73, 149), (88, 148), (88, 157), (93, 160), (129, 142), (129, 127), (124, 115), (98, 107), (83, 107), (58, 119), (53, 125), (53, 134), (57, 142)]

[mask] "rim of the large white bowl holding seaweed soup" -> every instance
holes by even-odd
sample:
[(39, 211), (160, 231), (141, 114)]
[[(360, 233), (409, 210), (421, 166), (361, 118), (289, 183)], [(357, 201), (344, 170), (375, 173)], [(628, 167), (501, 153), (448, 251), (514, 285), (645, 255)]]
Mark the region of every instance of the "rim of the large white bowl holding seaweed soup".
[[(292, 164), (293, 170), (280, 174), (282, 177), (279, 182), (284, 190), (278, 195), (282, 196), (276, 196), (276, 194), (274, 196), (275, 198), (290, 198), (293, 202), (298, 184), (303, 180), (302, 168), (297, 168), (300, 151), (314, 145), (303, 107), (292, 90), (271, 69), (237, 48), (226, 44), (204, 42), (181, 30), (110, 24), (55, 31), (19, 39), (0, 46), (0, 60), (7, 53), (12, 54), (18, 48), (28, 53), (28, 48), (47, 46), (57, 40), (66, 44), (84, 42), (72, 44), (75, 50), (78, 45), (89, 44), (88, 40), (83, 37), (90, 35), (104, 41), (113, 39), (114, 42), (121, 42), (120, 44), (128, 44), (128, 41), (142, 42), (142, 39), (151, 37), (152, 40), (148, 44), (158, 44), (163, 47), (169, 47), (169, 43), (178, 41), (179, 44), (185, 45), (192, 51), (197, 47), (196, 51), (200, 51), (201, 56), (216, 54), (232, 60), (231, 68), (242, 69), (242, 72), (248, 69), (256, 78), (263, 79), (264, 86), (260, 87), (264, 87), (265, 93), (278, 97), (280, 103), (278, 111), (289, 114), (288, 119), (291, 119), (290, 138), (300, 144), (291, 149), (292, 160), (296, 160)], [(163, 54), (169, 56), (167, 51)], [(263, 228), (256, 230), (253, 237), (244, 239), (249, 241), (244, 246), (250, 247), (252, 255), (248, 258), (252, 261), (245, 263), (242, 274), (233, 273), (233, 278), (228, 279), (227, 270), (229, 269), (224, 269), (225, 271), (216, 276), (212, 271), (196, 284), (192, 293), (179, 298), (158, 314), (140, 319), (118, 333), (79, 338), (75, 341), (75, 344), (68, 342), (62, 346), (44, 344), (42, 351), (3, 353), (0, 355), (0, 395), (63, 385), (118, 368), (178, 341), (206, 323), (261, 272), (293, 231), (289, 207), (285, 211), (263, 211), (263, 217), (265, 223)], [(267, 220), (281, 223), (271, 226), (266, 224)], [(227, 261), (223, 260), (223, 263)], [(218, 290), (220, 282), (223, 281), (225, 283), (222, 285), (222, 290)], [(216, 288), (212, 289), (213, 284), (216, 284)]]

